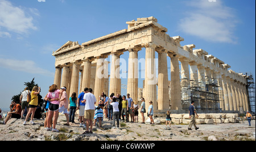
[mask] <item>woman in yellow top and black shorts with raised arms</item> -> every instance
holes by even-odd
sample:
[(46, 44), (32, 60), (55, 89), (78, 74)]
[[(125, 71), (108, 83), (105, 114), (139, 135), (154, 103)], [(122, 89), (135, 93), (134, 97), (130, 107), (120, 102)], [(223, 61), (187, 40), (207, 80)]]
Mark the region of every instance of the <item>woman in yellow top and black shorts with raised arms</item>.
[(30, 117), (31, 113), (32, 113), (32, 115), (31, 115), (30, 124), (32, 124), (32, 125), (35, 124), (33, 119), (34, 119), (34, 116), (35, 116), (36, 108), (38, 107), (38, 94), (40, 94), (40, 87), (34, 86), (32, 88), (32, 91), (31, 91), (31, 102), (28, 104), (30, 109), (28, 110), (28, 113), (27, 113), (27, 116), (26, 116), (26, 120), (24, 121), (23, 125), (26, 125), (27, 120)]

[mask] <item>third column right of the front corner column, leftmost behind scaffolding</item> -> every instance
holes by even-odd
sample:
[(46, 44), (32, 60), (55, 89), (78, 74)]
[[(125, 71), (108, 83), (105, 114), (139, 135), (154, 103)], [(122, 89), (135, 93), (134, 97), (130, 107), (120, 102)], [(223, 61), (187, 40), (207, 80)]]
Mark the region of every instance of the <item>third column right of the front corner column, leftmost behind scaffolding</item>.
[(180, 76), (181, 76), (181, 100), (183, 100), (182, 107), (188, 108), (191, 104), (189, 101), (190, 90), (188, 90), (189, 84), (189, 66), (188, 66), (188, 59), (181, 57), (179, 58), (181, 63), (180, 69)]

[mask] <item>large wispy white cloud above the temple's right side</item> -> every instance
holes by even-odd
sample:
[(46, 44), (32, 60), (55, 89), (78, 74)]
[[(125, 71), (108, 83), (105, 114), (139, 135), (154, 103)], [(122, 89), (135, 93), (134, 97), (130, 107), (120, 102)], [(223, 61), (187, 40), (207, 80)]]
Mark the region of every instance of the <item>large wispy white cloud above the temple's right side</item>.
[(224, 6), (220, 0), (189, 1), (187, 5), (192, 9), (180, 20), (181, 31), (207, 41), (236, 43), (234, 28), (238, 22), (232, 8)]

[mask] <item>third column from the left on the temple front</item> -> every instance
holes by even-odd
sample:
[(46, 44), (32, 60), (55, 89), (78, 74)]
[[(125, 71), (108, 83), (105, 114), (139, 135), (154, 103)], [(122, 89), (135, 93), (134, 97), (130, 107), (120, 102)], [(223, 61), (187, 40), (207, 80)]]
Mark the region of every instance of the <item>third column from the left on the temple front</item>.
[(72, 64), (73, 64), (73, 68), (72, 68), (72, 77), (71, 77), (69, 96), (72, 96), (73, 92), (76, 92), (76, 94), (78, 94), (78, 88), (79, 88), (80, 62), (73, 62)]

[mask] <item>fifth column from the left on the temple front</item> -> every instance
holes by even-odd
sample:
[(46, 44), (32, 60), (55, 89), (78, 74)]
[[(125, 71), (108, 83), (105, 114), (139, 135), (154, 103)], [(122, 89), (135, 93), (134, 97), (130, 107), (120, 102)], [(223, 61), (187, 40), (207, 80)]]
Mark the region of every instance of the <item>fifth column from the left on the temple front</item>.
[(96, 77), (95, 77), (95, 85), (94, 85), (94, 95), (96, 96), (98, 105), (98, 98), (101, 95), (101, 92), (104, 90), (104, 61), (105, 56), (97, 57), (97, 67), (96, 67)]

